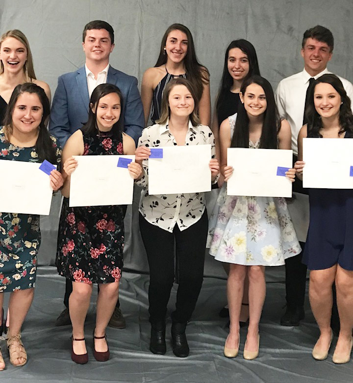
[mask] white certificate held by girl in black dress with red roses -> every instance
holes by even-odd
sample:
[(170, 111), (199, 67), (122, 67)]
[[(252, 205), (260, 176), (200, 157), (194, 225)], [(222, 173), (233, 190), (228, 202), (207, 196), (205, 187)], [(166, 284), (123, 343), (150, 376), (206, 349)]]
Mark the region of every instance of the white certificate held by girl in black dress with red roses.
[(119, 159), (135, 161), (134, 155), (74, 156), (77, 168), (71, 174), (69, 206), (131, 205), (133, 178)]

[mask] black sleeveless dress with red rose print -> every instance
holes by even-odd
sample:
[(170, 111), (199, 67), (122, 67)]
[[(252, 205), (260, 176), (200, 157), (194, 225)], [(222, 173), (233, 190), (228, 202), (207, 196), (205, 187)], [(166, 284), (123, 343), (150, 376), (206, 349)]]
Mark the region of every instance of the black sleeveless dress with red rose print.
[[(83, 155), (124, 154), (122, 133), (118, 139), (111, 132), (83, 134), (83, 142)], [(118, 282), (125, 213), (126, 205), (69, 207), (69, 199), (64, 198), (55, 262), (58, 273), (75, 282)]]

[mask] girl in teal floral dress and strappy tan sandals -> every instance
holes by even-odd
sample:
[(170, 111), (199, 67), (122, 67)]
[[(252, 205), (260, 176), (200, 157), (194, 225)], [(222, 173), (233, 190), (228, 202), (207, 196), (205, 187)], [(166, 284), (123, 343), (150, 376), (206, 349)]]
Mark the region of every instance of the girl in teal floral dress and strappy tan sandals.
[[(45, 126), (49, 113), (50, 103), (43, 88), (33, 83), (18, 85), (6, 109), (4, 126), (0, 127), (0, 161), (47, 160), (59, 165), (61, 149)], [(58, 190), (63, 184), (61, 174), (52, 170), (49, 182), (53, 190)], [(0, 213), (0, 315), (2, 318), (3, 293), (9, 292), (6, 342), (10, 362), (15, 366), (23, 366), (27, 361), (21, 328), (34, 295), (40, 241), (39, 215)], [(1, 319), (0, 335), (2, 329)], [(0, 353), (0, 370), (4, 368)]]

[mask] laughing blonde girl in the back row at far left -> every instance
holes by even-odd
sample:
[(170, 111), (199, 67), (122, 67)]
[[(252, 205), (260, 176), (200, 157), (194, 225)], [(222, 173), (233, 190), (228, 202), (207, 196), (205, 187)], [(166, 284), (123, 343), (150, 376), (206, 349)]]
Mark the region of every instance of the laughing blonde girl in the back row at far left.
[(20, 30), (8, 30), (1, 36), (0, 60), (0, 124), (12, 91), (19, 84), (32, 82), (40, 86), (46, 92), (50, 103), (49, 85), (36, 79), (29, 43)]

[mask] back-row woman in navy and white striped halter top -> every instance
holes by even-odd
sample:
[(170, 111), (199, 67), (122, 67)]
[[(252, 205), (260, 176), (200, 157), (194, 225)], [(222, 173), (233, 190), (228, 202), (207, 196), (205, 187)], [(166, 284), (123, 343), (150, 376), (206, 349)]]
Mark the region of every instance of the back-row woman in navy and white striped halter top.
[(169, 81), (177, 77), (187, 78), (192, 83), (200, 100), (196, 113), (199, 115), (201, 123), (209, 126), (211, 122), (209, 73), (196, 57), (190, 30), (182, 24), (172, 24), (166, 30), (156, 64), (144, 73), (141, 98), (146, 125), (151, 105), (152, 123), (156, 123), (160, 118), (164, 88)]

